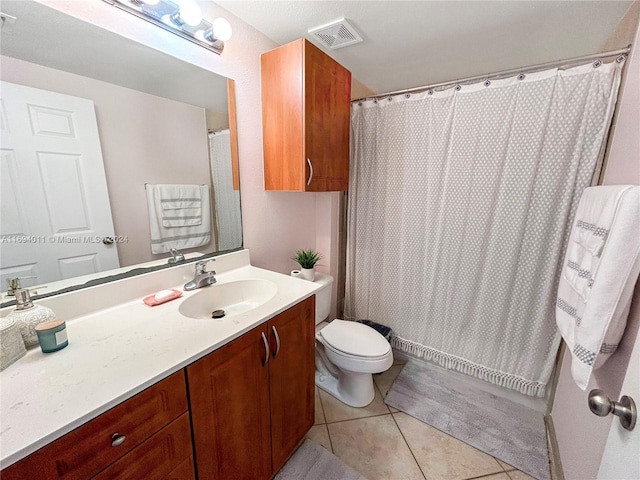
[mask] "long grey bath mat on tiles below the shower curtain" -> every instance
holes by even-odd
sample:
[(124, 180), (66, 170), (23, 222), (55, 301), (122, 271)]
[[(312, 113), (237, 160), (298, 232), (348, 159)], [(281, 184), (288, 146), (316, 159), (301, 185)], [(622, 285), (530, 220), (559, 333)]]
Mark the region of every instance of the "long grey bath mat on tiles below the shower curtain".
[(385, 402), (532, 477), (549, 480), (543, 414), (459, 377), (437, 365), (410, 360)]

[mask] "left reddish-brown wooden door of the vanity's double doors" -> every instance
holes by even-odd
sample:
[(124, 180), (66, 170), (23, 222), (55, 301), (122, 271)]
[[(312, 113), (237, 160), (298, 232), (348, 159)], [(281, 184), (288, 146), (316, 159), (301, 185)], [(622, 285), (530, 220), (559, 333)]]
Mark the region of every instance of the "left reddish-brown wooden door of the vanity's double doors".
[(271, 477), (266, 334), (257, 327), (187, 367), (198, 478)]

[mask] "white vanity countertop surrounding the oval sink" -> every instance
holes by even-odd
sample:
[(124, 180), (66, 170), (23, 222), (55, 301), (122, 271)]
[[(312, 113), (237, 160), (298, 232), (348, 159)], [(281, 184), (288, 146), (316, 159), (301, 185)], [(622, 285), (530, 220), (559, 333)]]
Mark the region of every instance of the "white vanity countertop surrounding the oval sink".
[[(243, 252), (234, 258), (241, 258)], [(244, 255), (248, 261), (248, 252)], [(213, 265), (218, 272), (221, 271), (219, 263)], [(192, 271), (193, 266), (174, 268)], [(166, 278), (167, 271), (162, 272), (156, 277)], [(154, 274), (145, 277), (153, 279)], [(122, 287), (118, 282), (92, 287), (89, 293), (93, 298), (127, 288), (131, 282), (136, 282), (138, 288), (141, 288), (140, 282), (147, 282), (153, 289), (111, 308), (71, 320), (66, 316), (68, 347), (50, 354), (43, 354), (39, 348), (32, 349), (0, 373), (1, 467), (26, 457), (310, 297), (320, 288), (317, 283), (250, 265), (216, 275), (218, 284), (249, 278), (270, 280), (278, 292), (253, 310), (219, 320), (195, 320), (178, 312), (184, 299), (203, 289), (184, 292), (181, 298), (155, 307), (142, 302), (144, 296), (163, 288), (182, 290), (184, 282), (158, 288), (157, 278), (147, 282), (135, 277), (124, 280)], [(77, 293), (81, 294), (86, 299), (86, 290)], [(73, 300), (71, 294), (67, 300)], [(59, 307), (62, 301), (64, 299), (56, 300)]]

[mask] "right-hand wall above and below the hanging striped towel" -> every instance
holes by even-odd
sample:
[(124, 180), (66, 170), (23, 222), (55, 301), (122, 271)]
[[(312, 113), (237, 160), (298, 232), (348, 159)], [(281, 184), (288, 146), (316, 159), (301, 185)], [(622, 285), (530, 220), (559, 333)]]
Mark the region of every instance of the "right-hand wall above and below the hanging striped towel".
[[(636, 20), (636, 28), (637, 25)], [(640, 185), (640, 38), (637, 33), (627, 61), (628, 70), (604, 176), (606, 185)], [(631, 352), (640, 338), (639, 327), (640, 285), (636, 285), (621, 346), (601, 369), (593, 373), (584, 392), (573, 382), (571, 355), (565, 352), (551, 414), (567, 480), (597, 477), (613, 417), (601, 418), (592, 414), (587, 396), (594, 388), (600, 388), (614, 400), (624, 394), (622, 382)]]

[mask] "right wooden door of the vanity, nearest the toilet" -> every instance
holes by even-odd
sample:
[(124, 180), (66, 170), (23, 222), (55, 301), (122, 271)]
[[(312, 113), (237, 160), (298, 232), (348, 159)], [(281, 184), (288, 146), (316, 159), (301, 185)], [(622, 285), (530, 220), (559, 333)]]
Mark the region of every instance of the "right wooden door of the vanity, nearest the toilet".
[[(315, 296), (269, 320), (271, 451), (278, 471), (314, 422)], [(279, 348), (278, 348), (279, 345)]]

